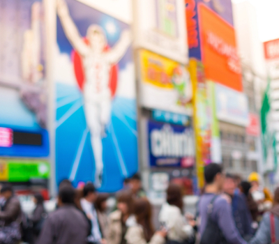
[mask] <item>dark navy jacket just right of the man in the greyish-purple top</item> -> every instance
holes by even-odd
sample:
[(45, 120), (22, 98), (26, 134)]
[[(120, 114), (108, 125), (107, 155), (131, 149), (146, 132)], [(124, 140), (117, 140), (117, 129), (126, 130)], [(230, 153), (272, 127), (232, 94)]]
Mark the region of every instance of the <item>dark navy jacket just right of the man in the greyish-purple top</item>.
[(240, 192), (232, 197), (232, 214), (239, 234), (243, 238), (251, 237), (253, 234), (252, 216), (247, 206), (246, 197)]

